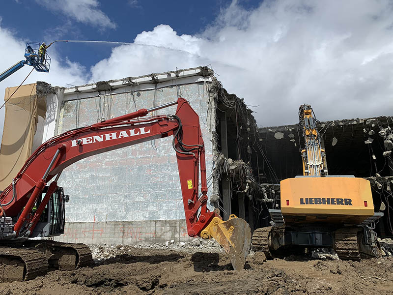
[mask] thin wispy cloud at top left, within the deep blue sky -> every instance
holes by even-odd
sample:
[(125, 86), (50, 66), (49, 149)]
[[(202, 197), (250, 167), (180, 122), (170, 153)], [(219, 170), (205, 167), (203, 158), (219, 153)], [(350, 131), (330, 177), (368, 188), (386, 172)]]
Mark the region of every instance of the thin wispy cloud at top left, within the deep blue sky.
[(97, 0), (36, 0), (48, 10), (64, 13), (80, 23), (103, 29), (115, 29), (116, 24), (99, 9)]

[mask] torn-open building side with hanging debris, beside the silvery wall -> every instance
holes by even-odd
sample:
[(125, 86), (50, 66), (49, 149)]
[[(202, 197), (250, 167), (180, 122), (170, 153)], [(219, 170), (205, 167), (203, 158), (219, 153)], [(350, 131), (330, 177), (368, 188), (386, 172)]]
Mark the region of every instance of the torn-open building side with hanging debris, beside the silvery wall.
[(220, 208), (224, 220), (235, 214), (253, 229), (262, 171), (258, 165), (261, 153), (256, 121), (243, 99), (229, 94), (220, 82), (213, 81), (210, 91), (216, 102), (217, 126), (213, 138), (213, 175), (217, 181), (214, 206)]

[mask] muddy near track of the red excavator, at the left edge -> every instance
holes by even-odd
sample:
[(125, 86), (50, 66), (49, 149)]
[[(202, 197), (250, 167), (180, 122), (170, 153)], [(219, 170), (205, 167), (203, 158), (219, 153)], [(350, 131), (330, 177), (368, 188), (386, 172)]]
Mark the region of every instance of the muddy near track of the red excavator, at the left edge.
[(48, 272), (48, 260), (34, 248), (0, 247), (0, 281), (28, 281)]

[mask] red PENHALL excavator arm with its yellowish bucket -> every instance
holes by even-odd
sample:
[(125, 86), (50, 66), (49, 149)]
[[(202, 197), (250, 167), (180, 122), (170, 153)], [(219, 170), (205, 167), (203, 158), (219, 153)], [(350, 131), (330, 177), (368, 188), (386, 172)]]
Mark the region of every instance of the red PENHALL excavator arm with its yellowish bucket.
[[(174, 104), (177, 104), (175, 115), (141, 118), (149, 112)], [(57, 188), (57, 180), (64, 168), (88, 156), (172, 135), (188, 235), (215, 238), (229, 254), (234, 269), (243, 268), (250, 247), (250, 227), (243, 219), (235, 216), (223, 221), (219, 214), (207, 208), (205, 151), (199, 118), (183, 98), (150, 110), (141, 109), (67, 131), (37, 148), (13, 183), (0, 194), (1, 213), (13, 218), (20, 214), (14, 224), (13, 238), (26, 237), (32, 233), (51, 194)], [(44, 199), (35, 213), (31, 214), (44, 187), (54, 177)]]

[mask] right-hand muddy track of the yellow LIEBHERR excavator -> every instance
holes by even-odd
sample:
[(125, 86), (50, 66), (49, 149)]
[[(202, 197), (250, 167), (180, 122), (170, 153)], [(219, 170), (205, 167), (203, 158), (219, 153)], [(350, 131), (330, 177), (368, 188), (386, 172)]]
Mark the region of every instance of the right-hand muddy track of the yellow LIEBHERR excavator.
[(358, 245), (359, 228), (342, 228), (335, 232), (334, 250), (341, 260), (361, 259)]

